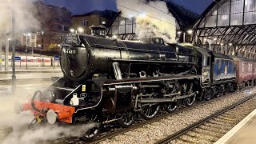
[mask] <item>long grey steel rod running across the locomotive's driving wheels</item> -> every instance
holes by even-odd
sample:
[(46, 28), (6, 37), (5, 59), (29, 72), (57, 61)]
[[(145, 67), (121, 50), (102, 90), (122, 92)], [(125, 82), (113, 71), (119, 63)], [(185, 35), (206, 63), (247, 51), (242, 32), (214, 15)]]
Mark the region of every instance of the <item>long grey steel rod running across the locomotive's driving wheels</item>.
[(182, 98), (188, 98), (191, 97), (194, 94), (198, 94), (198, 91), (192, 93), (192, 94), (186, 94), (174, 98), (146, 98), (146, 99), (141, 99), (141, 103), (155, 103), (155, 102), (174, 102), (175, 100), (182, 99)]

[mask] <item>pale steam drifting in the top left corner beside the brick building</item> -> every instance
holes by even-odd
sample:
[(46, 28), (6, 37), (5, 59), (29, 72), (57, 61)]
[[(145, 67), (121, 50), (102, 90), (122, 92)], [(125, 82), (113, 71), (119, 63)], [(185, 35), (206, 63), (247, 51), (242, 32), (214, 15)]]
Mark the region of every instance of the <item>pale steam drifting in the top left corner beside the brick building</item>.
[(34, 9), (33, 2), (35, 0), (1, 0), (0, 36), (10, 37), (12, 10), (14, 11), (16, 37), (19, 34), (23, 35), (31, 26), (40, 27), (40, 22), (34, 17), (37, 11)]

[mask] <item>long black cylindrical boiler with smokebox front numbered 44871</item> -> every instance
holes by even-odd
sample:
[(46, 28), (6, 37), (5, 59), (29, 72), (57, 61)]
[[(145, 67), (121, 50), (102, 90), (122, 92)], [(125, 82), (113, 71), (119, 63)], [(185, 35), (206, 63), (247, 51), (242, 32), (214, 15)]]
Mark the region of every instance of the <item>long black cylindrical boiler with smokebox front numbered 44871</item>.
[[(76, 39), (78, 43), (62, 47), (60, 60), (63, 73), (72, 81), (84, 81), (95, 75), (116, 80), (154, 77), (191, 69), (191, 50), (166, 46), (162, 38), (151, 38), (154, 43), (116, 41), (90, 35), (80, 35)], [(179, 69), (173, 70), (178, 63), (181, 64)]]

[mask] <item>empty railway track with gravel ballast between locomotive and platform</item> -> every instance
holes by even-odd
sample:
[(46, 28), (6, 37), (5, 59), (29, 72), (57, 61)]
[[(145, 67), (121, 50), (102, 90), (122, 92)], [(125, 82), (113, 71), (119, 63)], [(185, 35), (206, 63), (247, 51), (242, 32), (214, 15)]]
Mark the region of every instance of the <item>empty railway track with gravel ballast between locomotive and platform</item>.
[[(156, 143), (214, 143), (256, 108), (256, 105), (247, 108), (243, 105), (246, 102), (255, 102), (255, 96), (256, 94), (252, 94), (243, 98)], [(238, 110), (242, 110), (241, 115), (238, 114)]]

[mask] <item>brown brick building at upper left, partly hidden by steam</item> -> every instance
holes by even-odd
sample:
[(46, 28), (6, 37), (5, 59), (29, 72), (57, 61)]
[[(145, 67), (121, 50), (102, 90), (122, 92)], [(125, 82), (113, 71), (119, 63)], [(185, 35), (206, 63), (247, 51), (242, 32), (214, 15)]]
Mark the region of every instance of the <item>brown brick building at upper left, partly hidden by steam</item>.
[(70, 10), (43, 2), (34, 2), (33, 6), (34, 18), (40, 26), (27, 26), (23, 34), (18, 34), (16, 51), (25, 54), (27, 45), (29, 54), (58, 54), (64, 34), (70, 32)]

